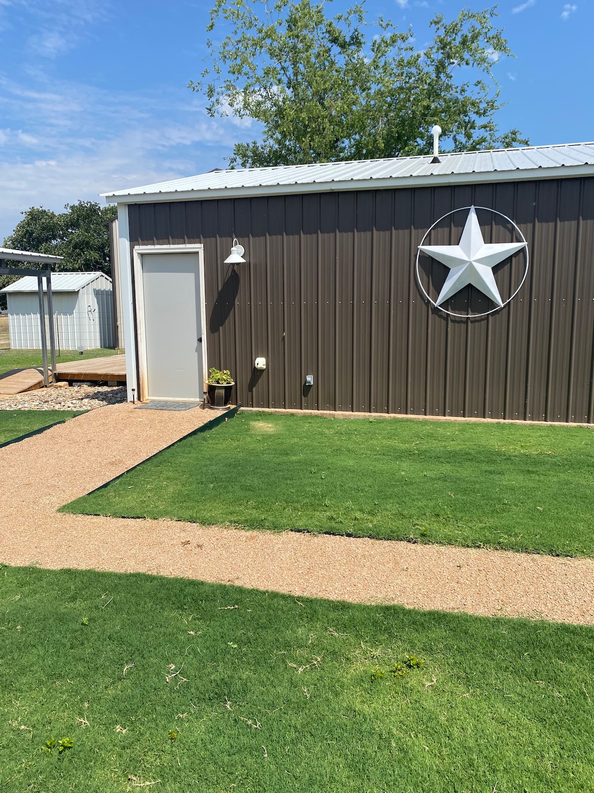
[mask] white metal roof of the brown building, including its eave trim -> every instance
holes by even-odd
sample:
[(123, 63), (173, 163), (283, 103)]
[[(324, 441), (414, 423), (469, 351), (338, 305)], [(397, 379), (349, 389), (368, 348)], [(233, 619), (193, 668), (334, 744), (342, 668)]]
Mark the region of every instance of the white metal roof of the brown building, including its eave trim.
[(462, 151), (440, 154), (440, 163), (431, 160), (423, 155), (215, 170), (102, 195), (110, 203), (138, 203), (594, 175), (594, 143)]

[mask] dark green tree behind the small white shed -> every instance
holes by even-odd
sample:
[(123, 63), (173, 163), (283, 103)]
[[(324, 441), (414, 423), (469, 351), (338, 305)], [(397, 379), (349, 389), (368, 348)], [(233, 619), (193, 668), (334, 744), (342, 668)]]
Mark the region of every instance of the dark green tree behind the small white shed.
[[(116, 216), (116, 207), (102, 207), (96, 201), (78, 201), (67, 204), (64, 209), (66, 212), (62, 213), (42, 206), (27, 209), (13, 233), (4, 240), (3, 247), (63, 256), (63, 262), (54, 268), (57, 272), (74, 270), (111, 275), (106, 221)], [(23, 262), (14, 262), (14, 265), (26, 267)], [(0, 289), (16, 280), (15, 276), (0, 275)], [(6, 301), (6, 295), (0, 297)]]

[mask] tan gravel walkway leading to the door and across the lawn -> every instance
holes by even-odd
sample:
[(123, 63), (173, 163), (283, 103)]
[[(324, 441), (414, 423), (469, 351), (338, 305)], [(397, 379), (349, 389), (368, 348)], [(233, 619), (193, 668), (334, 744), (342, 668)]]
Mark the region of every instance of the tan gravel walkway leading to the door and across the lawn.
[(118, 404), (0, 450), (0, 560), (594, 625), (592, 559), (56, 514), (211, 417)]

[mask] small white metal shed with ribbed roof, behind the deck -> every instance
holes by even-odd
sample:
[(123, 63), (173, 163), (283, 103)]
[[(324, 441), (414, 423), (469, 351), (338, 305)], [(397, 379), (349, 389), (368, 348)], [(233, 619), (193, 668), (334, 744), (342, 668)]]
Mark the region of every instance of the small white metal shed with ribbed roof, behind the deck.
[[(8, 328), (13, 350), (39, 350), (41, 347), (37, 289), (37, 278), (29, 275), (2, 289), (8, 302)], [(53, 273), (51, 293), (55, 340), (60, 350), (114, 346), (112, 279), (108, 275)], [(47, 326), (47, 293), (45, 311)], [(49, 338), (48, 333), (46, 338)]]

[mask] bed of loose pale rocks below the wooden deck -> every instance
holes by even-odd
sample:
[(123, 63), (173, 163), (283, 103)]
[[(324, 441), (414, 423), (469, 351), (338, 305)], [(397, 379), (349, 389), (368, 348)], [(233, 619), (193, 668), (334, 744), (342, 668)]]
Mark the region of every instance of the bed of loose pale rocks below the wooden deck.
[(91, 410), (126, 401), (126, 389), (113, 385), (51, 386), (0, 399), (0, 410)]

